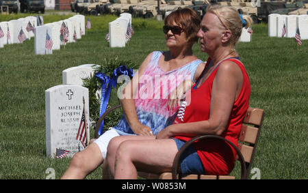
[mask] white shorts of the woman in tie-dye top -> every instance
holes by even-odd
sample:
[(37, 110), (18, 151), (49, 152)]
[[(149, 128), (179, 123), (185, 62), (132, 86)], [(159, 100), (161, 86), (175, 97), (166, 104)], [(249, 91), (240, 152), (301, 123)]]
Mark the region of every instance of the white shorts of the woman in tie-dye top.
[(103, 155), (104, 160), (106, 158), (108, 144), (110, 140), (116, 136), (120, 136), (120, 134), (118, 134), (118, 132), (116, 132), (113, 128), (109, 128), (109, 130), (99, 136), (97, 140), (94, 140), (94, 143), (99, 145), (99, 149), (101, 149), (101, 154)]

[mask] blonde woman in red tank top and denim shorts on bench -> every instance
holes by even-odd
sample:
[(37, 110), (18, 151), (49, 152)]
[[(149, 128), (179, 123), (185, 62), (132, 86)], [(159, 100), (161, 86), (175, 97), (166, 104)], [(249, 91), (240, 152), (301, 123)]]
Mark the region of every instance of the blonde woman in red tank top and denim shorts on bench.
[[(251, 19), (246, 18), (246, 25), (250, 24)], [(134, 136), (120, 143), (116, 179), (137, 178), (137, 170), (170, 171), (180, 144), (194, 136), (215, 134), (237, 145), (251, 93), (248, 75), (235, 51), (242, 27), (233, 8), (212, 6), (207, 10), (198, 31), (201, 50), (209, 55), (201, 78), (190, 89), (190, 97), (186, 93), (175, 123), (159, 132), (155, 140)], [(190, 170), (190, 166), (194, 169), (201, 164), (203, 170), (196, 168), (196, 173), (226, 175), (235, 162), (235, 151), (227, 143), (215, 140), (195, 143), (190, 154), (197, 156), (183, 158), (182, 172), (183, 166)]]

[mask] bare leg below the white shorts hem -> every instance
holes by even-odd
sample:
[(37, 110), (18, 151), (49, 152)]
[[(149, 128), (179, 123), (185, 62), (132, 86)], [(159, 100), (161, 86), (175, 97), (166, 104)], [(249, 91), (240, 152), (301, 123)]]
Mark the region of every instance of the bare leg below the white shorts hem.
[(103, 162), (103, 155), (96, 143), (76, 153), (61, 179), (84, 179)]

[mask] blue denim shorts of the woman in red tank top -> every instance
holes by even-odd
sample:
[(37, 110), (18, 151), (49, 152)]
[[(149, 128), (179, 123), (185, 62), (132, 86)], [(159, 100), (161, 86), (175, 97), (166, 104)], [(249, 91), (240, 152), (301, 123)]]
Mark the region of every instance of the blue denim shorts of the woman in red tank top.
[[(177, 138), (172, 138), (177, 144), (177, 149), (180, 149), (185, 141), (179, 140)], [(205, 169), (203, 164), (198, 156), (196, 149), (190, 145), (183, 154), (181, 155), (181, 170), (182, 175), (188, 174), (205, 174)]]

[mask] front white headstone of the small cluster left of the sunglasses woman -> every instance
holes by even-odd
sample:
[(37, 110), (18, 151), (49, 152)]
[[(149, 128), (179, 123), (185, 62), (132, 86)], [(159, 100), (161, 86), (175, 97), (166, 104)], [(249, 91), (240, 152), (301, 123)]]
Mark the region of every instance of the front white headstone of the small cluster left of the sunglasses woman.
[(109, 23), (110, 47), (125, 47), (125, 33), (127, 23), (125, 20), (114, 20)]

